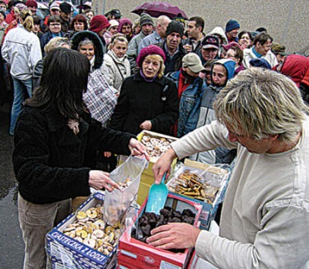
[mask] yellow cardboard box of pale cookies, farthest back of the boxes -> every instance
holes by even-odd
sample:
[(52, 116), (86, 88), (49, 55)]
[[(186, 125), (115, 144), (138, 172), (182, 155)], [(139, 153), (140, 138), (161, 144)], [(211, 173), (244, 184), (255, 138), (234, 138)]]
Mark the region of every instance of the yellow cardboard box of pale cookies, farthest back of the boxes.
[[(147, 134), (150, 137), (155, 137), (155, 138), (165, 138), (165, 139), (171, 139), (173, 141), (176, 141), (177, 138), (176, 137), (170, 137), (168, 135), (165, 134), (159, 134), (157, 132), (150, 132), (147, 130), (144, 130), (143, 132), (140, 132), (137, 135), (137, 139), (139, 141), (141, 141), (142, 137), (144, 137), (144, 135)], [(124, 163), (124, 161), (126, 161), (126, 158), (128, 158), (127, 156), (119, 156), (119, 161), (118, 161), (118, 165), (120, 165), (121, 163)], [(137, 193), (137, 203), (139, 205), (143, 204), (148, 196), (148, 192), (150, 189), (150, 186), (155, 183), (155, 176), (152, 173), (152, 167), (155, 163), (157, 163), (159, 157), (150, 157), (150, 161), (148, 162), (148, 165), (145, 167), (143, 173), (141, 174), (141, 183), (139, 185), (139, 191)], [(174, 159), (173, 163), (172, 163), (172, 169), (175, 167), (176, 165), (176, 159)]]

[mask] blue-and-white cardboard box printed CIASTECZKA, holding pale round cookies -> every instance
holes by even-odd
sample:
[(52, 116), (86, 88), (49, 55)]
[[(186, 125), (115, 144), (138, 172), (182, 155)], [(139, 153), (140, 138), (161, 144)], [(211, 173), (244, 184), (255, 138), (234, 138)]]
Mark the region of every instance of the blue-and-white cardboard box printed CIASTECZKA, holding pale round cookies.
[[(79, 207), (78, 211), (86, 211), (103, 202), (103, 194), (93, 194)], [(106, 256), (62, 233), (67, 225), (72, 224), (75, 220), (76, 213), (72, 213), (45, 237), (47, 255), (56, 264), (54, 268), (57, 264), (58, 268), (61, 268), (62, 265), (65, 268), (108, 268), (108, 264), (111, 264), (111, 261), (115, 259), (116, 248)]]

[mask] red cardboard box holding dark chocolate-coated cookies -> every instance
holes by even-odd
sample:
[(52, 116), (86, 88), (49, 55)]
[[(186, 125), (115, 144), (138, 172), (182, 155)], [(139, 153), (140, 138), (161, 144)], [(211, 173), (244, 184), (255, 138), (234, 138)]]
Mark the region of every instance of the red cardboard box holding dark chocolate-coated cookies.
[[(144, 213), (146, 202), (139, 209), (138, 217)], [(191, 209), (196, 214), (194, 225), (198, 226), (198, 218), (202, 209), (200, 204), (183, 197), (175, 196), (174, 194), (168, 194), (165, 206), (172, 207), (178, 211)], [(138, 218), (136, 217), (133, 222), (136, 223), (137, 221)], [(184, 253), (172, 253), (169, 250), (160, 250), (131, 237), (130, 232), (132, 226), (133, 224), (128, 226), (124, 234), (120, 237), (117, 252), (117, 268), (186, 268), (192, 254), (191, 248), (185, 249)]]

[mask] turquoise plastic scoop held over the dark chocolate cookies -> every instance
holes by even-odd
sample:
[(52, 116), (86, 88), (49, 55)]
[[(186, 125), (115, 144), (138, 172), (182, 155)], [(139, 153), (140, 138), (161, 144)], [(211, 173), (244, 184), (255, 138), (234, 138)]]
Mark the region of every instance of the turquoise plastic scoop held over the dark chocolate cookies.
[(166, 173), (163, 174), (160, 184), (153, 183), (149, 189), (146, 212), (160, 213), (168, 198), (168, 187), (164, 184)]

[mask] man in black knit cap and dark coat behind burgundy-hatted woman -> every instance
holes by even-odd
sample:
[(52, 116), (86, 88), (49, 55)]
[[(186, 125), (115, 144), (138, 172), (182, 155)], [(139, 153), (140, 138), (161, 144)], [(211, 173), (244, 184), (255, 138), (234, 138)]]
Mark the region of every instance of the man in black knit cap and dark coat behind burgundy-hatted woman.
[(187, 54), (187, 51), (181, 44), (183, 30), (182, 23), (179, 21), (171, 21), (166, 29), (165, 41), (156, 44), (163, 49), (165, 54), (165, 74), (178, 71), (181, 68), (181, 60), (183, 59), (183, 56)]

